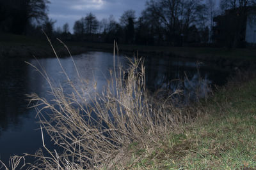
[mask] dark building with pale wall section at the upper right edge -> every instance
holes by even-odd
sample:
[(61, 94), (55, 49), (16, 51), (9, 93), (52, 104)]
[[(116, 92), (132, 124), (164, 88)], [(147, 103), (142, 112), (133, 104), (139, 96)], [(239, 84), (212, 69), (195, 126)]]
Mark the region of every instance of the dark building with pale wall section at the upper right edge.
[(218, 46), (244, 47), (256, 43), (255, 8), (226, 10), (214, 17), (212, 39)]

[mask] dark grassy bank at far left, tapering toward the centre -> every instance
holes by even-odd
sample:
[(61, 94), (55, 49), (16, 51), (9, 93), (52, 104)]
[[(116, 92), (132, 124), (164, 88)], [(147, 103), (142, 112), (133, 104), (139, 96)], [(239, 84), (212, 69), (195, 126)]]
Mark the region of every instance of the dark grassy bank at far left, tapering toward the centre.
[[(69, 53), (57, 39), (51, 39), (59, 57), (67, 57)], [(103, 51), (104, 48), (92, 48), (92, 46), (86, 43), (79, 42), (65, 42), (72, 55), (81, 54), (88, 51)], [(113, 46), (113, 45), (112, 45)], [(106, 49), (106, 51), (109, 51)], [(113, 50), (112, 50), (113, 51)], [(56, 57), (52, 48), (49, 45), (46, 37), (34, 38), (31, 36), (22, 36), (15, 34), (0, 34), (0, 57), (19, 57), (19, 58), (47, 58)]]

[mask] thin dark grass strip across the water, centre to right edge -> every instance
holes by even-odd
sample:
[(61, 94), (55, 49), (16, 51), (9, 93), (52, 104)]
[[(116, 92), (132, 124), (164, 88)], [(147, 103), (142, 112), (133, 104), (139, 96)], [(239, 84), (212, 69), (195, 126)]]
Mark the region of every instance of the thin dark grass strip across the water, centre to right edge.
[[(77, 43), (70, 42), (68, 45), (82, 45), (91, 49), (113, 51), (112, 43)], [(134, 53), (138, 50), (140, 55), (177, 55), (188, 58), (205, 60), (235, 59), (256, 60), (256, 49), (249, 48), (205, 48), (205, 47), (175, 47), (175, 46), (146, 46), (146, 45), (118, 45), (121, 53)]]

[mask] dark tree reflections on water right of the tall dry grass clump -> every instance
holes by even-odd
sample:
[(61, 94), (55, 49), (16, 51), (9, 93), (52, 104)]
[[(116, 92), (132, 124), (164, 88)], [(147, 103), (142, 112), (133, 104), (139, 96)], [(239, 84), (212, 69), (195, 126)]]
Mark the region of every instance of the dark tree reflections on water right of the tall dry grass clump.
[(204, 97), (212, 84), (223, 85), (230, 74), (214, 63), (198, 60), (147, 57), (145, 61), (148, 89), (183, 90), (186, 99)]

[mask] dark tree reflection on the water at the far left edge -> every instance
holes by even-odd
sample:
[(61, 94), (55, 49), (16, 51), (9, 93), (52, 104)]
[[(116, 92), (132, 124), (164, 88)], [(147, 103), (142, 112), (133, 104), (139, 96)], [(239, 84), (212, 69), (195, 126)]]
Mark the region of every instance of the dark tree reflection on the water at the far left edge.
[(19, 115), (26, 115), (27, 67), (22, 60), (0, 62), (0, 134), (10, 125), (20, 126)]

